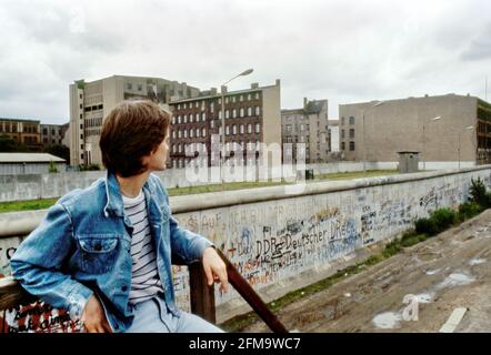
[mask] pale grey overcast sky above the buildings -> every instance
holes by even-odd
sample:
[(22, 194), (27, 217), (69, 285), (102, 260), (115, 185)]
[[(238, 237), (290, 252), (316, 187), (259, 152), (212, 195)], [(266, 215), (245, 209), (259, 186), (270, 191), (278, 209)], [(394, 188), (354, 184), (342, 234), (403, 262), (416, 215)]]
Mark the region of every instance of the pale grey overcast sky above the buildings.
[[(489, 0), (0, 0), (0, 116), (69, 120), (68, 85), (112, 74), (230, 90), (281, 79), (282, 109), (491, 87)], [(488, 89), (488, 101), (491, 88)]]

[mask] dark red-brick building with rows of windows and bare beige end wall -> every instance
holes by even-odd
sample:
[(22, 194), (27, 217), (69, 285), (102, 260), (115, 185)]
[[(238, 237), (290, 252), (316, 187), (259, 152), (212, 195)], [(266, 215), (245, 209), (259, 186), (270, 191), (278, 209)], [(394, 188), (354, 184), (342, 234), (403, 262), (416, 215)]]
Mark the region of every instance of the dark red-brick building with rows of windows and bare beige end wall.
[[(259, 87), (251, 84), (250, 89), (227, 91), (227, 87), (203, 91), (199, 97), (172, 101), (172, 132), (170, 138), (170, 162), (173, 168), (184, 168), (193, 158), (192, 143), (206, 146), (200, 156), (206, 156), (202, 164), (213, 164), (212, 144), (218, 144), (222, 136), (222, 109), (224, 114), (226, 159), (234, 150), (232, 143), (240, 144), (243, 158), (255, 143), (281, 145), (281, 110), (280, 80), (274, 85)], [(223, 106), (222, 106), (223, 98)], [(212, 141), (216, 136), (218, 140)], [(254, 144), (251, 144), (254, 143)], [(250, 144), (248, 146), (248, 144)], [(187, 148), (191, 148), (191, 154)], [(255, 154), (254, 154), (255, 155)], [(219, 156), (217, 156), (219, 159)], [(238, 159), (238, 156), (236, 156)], [(239, 159), (241, 160), (241, 159)], [(255, 162), (242, 161), (243, 164)]]

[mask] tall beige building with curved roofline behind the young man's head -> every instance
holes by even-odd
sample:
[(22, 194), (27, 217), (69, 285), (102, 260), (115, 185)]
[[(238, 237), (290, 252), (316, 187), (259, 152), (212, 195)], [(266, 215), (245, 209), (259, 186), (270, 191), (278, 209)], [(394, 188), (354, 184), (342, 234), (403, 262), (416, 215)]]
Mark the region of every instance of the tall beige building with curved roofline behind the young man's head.
[(160, 104), (193, 98), (199, 90), (161, 78), (113, 75), (70, 84), (70, 164), (99, 164), (99, 139), (103, 119), (121, 101), (149, 99)]

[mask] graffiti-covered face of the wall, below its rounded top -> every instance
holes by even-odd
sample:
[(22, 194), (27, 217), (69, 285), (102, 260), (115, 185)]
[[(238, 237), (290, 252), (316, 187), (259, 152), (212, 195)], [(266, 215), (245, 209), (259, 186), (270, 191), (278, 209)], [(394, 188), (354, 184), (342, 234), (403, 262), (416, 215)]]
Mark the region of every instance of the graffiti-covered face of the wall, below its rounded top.
[[(176, 219), (182, 227), (213, 241), (242, 276), (260, 290), (403, 232), (415, 219), (438, 207), (457, 206), (468, 196), (471, 176), (478, 175), (491, 185), (489, 172), (479, 171), (188, 212)], [(7, 275), (16, 245), (0, 247), (0, 271)], [(173, 266), (173, 281), (178, 305), (189, 311), (188, 268)], [(216, 290), (218, 305), (238, 297), (237, 293), (220, 294)], [(6, 313), (3, 322), (0, 320), (3, 331), (77, 332), (78, 325), (70, 323), (63, 311), (30, 306)], [(16, 318), (16, 314), (24, 316)]]

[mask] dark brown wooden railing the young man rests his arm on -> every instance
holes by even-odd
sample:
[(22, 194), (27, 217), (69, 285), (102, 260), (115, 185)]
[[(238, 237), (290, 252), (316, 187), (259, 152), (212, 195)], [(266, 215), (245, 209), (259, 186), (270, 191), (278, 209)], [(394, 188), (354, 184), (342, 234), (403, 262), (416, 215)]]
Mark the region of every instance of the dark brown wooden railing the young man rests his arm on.
[[(268, 308), (268, 305), (242, 277), (228, 257), (222, 252), (218, 252), (227, 265), (230, 285), (239, 292), (272, 332), (288, 333), (287, 328)], [(211, 323), (217, 323), (214, 287), (208, 286), (201, 263), (189, 265), (189, 273), (191, 312)], [(36, 301), (37, 298), (27, 293), (11, 276), (0, 278), (0, 311), (16, 308), (19, 305), (31, 304)]]

